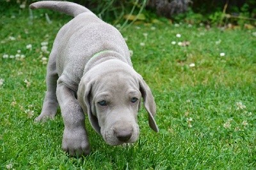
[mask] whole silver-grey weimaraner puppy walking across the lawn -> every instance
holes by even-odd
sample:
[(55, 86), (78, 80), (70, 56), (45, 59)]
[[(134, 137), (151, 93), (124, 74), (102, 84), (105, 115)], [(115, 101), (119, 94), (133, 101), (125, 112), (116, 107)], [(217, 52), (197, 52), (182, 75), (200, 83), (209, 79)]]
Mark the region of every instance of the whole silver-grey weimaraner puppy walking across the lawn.
[(134, 143), (139, 136), (141, 97), (148, 124), (159, 131), (152, 92), (132, 68), (128, 47), (115, 27), (76, 3), (39, 1), (30, 8), (47, 8), (74, 17), (61, 27), (54, 40), (44, 104), (35, 119), (53, 118), (60, 105), (65, 125), (63, 150), (70, 155), (90, 153), (84, 113), (109, 145)]

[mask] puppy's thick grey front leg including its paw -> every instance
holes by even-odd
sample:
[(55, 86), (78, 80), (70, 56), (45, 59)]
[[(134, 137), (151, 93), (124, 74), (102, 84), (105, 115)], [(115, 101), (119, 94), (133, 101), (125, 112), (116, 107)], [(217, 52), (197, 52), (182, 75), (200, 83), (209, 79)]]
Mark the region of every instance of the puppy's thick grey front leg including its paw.
[(73, 90), (58, 81), (56, 90), (65, 129), (62, 148), (70, 155), (88, 155), (90, 144), (85, 130), (84, 113)]

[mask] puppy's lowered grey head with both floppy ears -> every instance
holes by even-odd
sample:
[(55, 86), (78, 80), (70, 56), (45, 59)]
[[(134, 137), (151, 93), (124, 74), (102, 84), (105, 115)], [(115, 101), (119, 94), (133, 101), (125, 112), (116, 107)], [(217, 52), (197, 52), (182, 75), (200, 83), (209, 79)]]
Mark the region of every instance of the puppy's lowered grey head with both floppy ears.
[(109, 145), (134, 143), (138, 139), (141, 98), (148, 123), (158, 132), (152, 92), (140, 74), (122, 61), (108, 60), (90, 69), (79, 83), (77, 97), (93, 129)]

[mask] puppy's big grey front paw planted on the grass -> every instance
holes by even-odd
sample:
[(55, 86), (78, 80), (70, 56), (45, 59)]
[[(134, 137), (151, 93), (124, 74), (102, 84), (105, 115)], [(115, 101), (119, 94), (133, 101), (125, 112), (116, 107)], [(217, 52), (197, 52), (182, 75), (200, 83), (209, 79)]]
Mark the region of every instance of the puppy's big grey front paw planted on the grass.
[(63, 133), (62, 149), (71, 156), (88, 155), (90, 144), (85, 129), (66, 129)]

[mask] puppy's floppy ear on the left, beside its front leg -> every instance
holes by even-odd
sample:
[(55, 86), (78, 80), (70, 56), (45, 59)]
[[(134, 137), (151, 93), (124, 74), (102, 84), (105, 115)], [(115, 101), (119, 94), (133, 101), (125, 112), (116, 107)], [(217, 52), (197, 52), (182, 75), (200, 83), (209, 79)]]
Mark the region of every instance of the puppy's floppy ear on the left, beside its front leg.
[(93, 129), (100, 134), (98, 118), (92, 114), (92, 108), (90, 104), (90, 92), (92, 89), (92, 84), (92, 81), (86, 81), (86, 78), (82, 78), (77, 90), (77, 99), (83, 108), (84, 113), (88, 114)]

